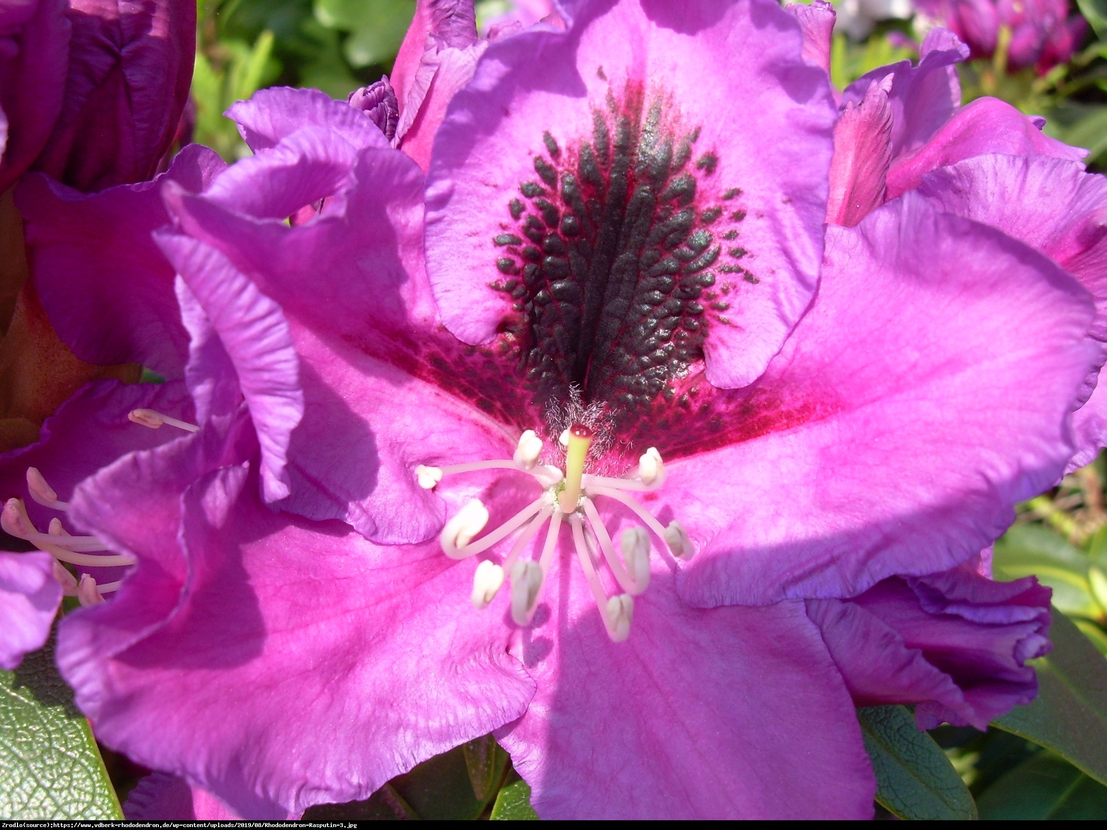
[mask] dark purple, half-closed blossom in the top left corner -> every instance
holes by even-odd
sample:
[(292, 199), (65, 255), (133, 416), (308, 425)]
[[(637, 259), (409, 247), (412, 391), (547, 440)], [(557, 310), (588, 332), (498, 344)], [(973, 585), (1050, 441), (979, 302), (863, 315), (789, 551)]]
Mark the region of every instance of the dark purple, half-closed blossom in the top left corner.
[(28, 168), (86, 191), (149, 178), (188, 98), (195, 39), (195, 3), (179, 0), (0, 0), (0, 191)]

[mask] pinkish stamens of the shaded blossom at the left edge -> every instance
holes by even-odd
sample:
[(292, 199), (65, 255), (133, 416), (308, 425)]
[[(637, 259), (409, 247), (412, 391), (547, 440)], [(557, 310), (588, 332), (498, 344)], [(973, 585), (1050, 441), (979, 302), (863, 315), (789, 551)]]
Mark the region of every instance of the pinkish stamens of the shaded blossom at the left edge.
[[(199, 429), (195, 424), (178, 421), (153, 409), (134, 409), (127, 417), (135, 424), (154, 429), (163, 424), (185, 432)], [(27, 468), (27, 489), (35, 504), (59, 512), (69, 510), (69, 502), (58, 498), (58, 492), (35, 467)], [(0, 527), (3, 527), (10, 536), (23, 539), (39, 550), (50, 553), (54, 558), (54, 579), (61, 583), (63, 593), (66, 596), (76, 596), (82, 605), (103, 602), (104, 594), (118, 590), (121, 582), (97, 582), (90, 573), (81, 574), (79, 580), (65, 564), (79, 568), (121, 568), (135, 563), (132, 557), (106, 552), (110, 548), (94, 536), (73, 536), (62, 527), (58, 517), (50, 520), (45, 533), (41, 532), (28, 516), (22, 499), (8, 499), (3, 510), (0, 511)]]

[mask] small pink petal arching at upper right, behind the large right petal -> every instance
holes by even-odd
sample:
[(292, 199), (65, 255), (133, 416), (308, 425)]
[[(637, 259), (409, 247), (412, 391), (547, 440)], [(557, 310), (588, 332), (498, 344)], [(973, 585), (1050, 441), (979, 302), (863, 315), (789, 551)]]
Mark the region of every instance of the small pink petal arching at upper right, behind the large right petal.
[(1049, 156), (1079, 162), (1087, 153), (1051, 138), (1041, 124), (997, 98), (976, 98), (956, 114), (914, 153), (892, 160), (888, 198), (919, 186), (939, 167), (986, 153), (1012, 156)]

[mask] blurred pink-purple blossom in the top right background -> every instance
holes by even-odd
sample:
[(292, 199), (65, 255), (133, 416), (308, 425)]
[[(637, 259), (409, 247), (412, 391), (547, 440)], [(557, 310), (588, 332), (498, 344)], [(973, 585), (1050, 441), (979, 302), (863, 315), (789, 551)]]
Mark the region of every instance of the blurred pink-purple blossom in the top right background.
[(973, 58), (991, 58), (1001, 30), (1011, 69), (1034, 66), (1038, 73), (1065, 63), (1088, 32), (1087, 21), (1068, 0), (914, 0), (928, 17), (969, 44)]

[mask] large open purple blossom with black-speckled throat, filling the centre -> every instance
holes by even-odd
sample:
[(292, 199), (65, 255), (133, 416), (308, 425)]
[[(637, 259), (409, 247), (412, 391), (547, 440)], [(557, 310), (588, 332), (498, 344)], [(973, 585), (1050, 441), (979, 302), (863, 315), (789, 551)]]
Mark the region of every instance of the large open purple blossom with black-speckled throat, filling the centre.
[[(1031, 693), (1045, 593), (928, 574), (1064, 469), (1090, 298), (913, 193), (824, 247), (835, 107), (775, 3), (566, 20), (484, 48), (425, 180), (366, 111), (269, 90), (230, 113), (254, 157), (164, 188), (199, 432), (76, 488), (137, 567), (59, 661), (103, 740), (240, 815), (492, 729), (545, 817), (869, 815), (815, 600), (952, 716)], [(986, 676), (935, 656), (976, 606)]]

